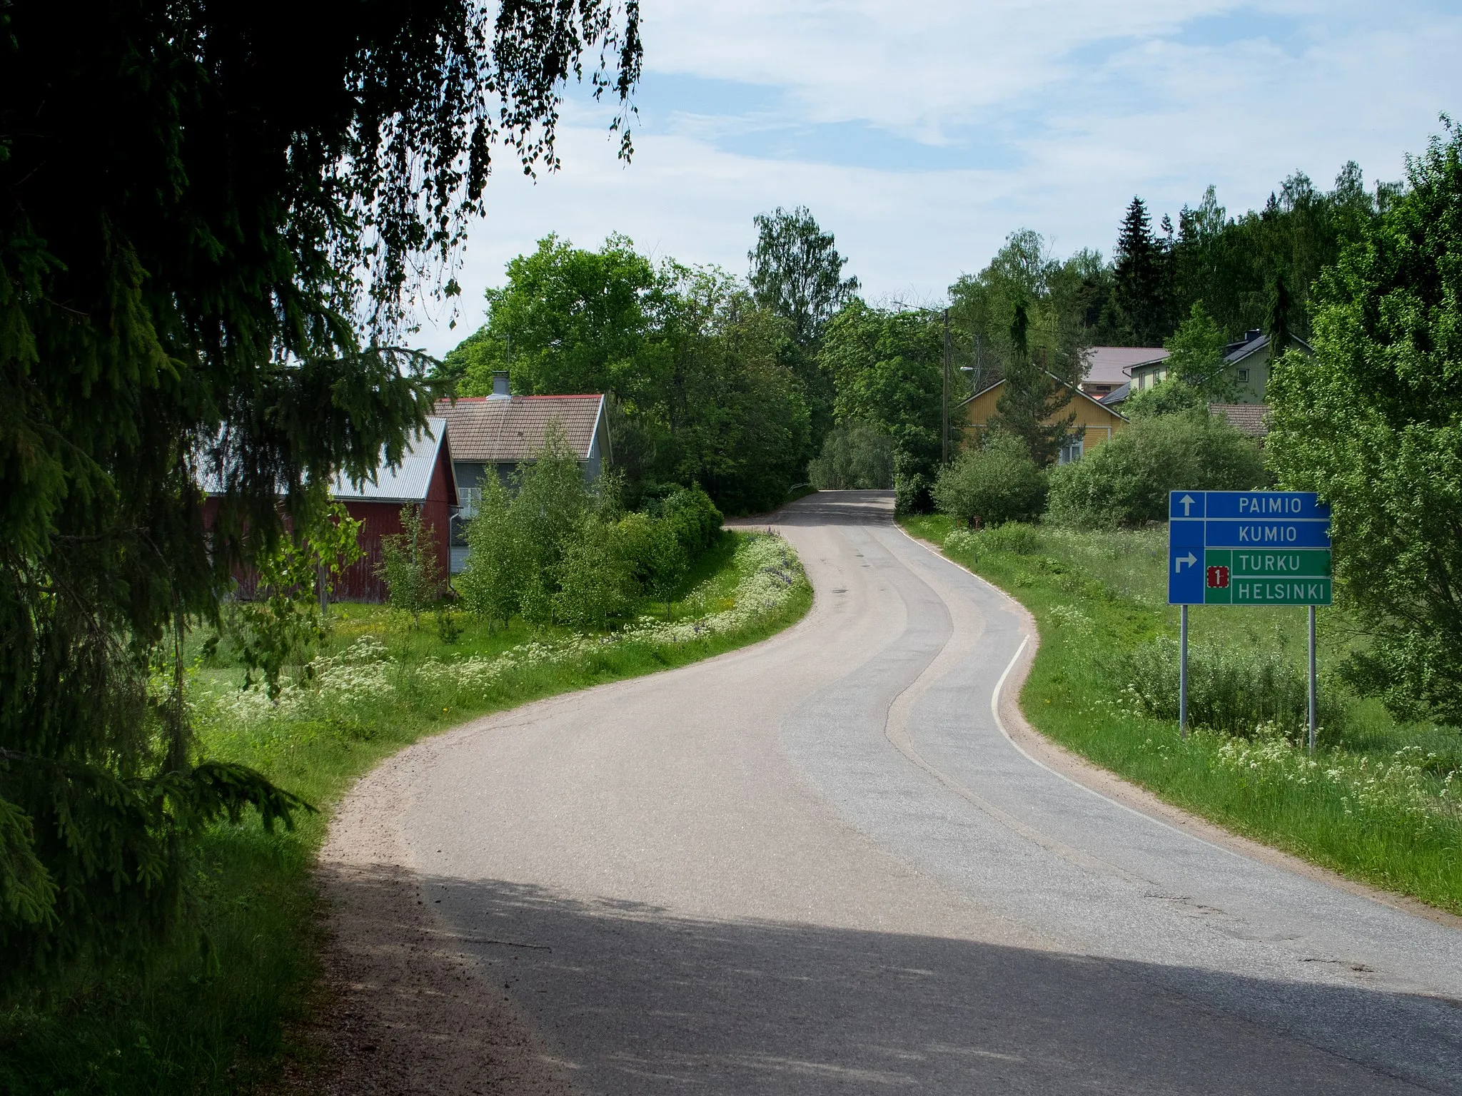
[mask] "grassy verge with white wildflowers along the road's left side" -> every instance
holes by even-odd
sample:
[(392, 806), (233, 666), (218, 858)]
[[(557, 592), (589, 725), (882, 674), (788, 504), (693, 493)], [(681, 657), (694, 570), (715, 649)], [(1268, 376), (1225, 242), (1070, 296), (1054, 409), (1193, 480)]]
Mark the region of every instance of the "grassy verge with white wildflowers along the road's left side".
[(288, 1032), (320, 1007), (310, 871), (330, 807), (351, 783), (474, 716), (772, 636), (811, 605), (795, 558), (766, 563), (763, 549), (784, 544), (724, 532), (681, 598), (643, 606), (636, 630), (613, 643), (520, 621), (491, 630), (468, 617), (447, 643), (430, 615), (412, 630), (383, 606), (339, 605), (325, 669), (313, 685), (287, 690), (278, 709), (244, 703), (243, 671), (227, 650), (199, 665), (192, 696), (203, 751), (262, 769), (320, 811), (291, 833), (265, 833), (256, 820), (215, 827), (190, 867), (184, 931), (136, 962), (73, 972), (0, 1011), (0, 1092), (256, 1092), (287, 1055), (308, 1062), (313, 1049)]

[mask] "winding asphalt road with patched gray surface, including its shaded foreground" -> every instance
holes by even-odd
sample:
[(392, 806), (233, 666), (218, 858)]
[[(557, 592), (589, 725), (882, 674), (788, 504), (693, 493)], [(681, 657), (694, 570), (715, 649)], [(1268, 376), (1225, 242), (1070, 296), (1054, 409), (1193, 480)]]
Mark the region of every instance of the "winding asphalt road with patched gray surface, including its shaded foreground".
[(585, 1093), (1462, 1093), (1462, 935), (1035, 764), (877, 492), (756, 647), (437, 739), (409, 868)]

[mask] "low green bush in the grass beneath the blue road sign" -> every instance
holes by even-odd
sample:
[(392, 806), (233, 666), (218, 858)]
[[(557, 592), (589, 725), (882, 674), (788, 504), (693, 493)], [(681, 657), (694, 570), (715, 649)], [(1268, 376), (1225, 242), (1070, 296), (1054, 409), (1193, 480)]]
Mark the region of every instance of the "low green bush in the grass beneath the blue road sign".
[[(1145, 716), (1178, 718), (1178, 642), (1171, 636), (1143, 643), (1111, 672), (1126, 699)], [(1332, 682), (1319, 693), (1317, 719), (1339, 732), (1347, 704)], [(1250, 737), (1263, 725), (1298, 734), (1310, 720), (1310, 682), (1304, 668), (1282, 652), (1189, 644), (1189, 722)]]

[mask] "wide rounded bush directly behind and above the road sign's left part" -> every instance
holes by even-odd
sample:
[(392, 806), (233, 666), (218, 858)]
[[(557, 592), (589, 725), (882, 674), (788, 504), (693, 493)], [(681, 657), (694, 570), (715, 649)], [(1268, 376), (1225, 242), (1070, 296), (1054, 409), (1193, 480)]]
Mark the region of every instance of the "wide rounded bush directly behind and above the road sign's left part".
[(1197, 409), (1137, 419), (1082, 460), (1053, 469), (1047, 516), (1077, 529), (1136, 526), (1168, 516), (1168, 491), (1265, 482), (1259, 446)]

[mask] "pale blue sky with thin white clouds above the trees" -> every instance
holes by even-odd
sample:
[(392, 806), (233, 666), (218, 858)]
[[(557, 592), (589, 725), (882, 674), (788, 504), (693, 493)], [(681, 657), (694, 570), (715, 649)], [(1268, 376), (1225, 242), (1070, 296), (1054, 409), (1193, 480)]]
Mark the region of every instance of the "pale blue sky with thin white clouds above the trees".
[[(1111, 253), (1135, 194), (1154, 213), (1216, 187), (1230, 213), (1304, 171), (1367, 186), (1462, 115), (1462, 4), (1408, 0), (642, 0), (635, 155), (570, 94), (563, 168), (504, 156), (472, 224), (444, 354), (482, 291), (548, 232), (744, 276), (751, 218), (806, 205), (863, 295), (937, 304), (1020, 228), (1057, 256)], [(450, 323), (456, 321), (455, 329)]]

